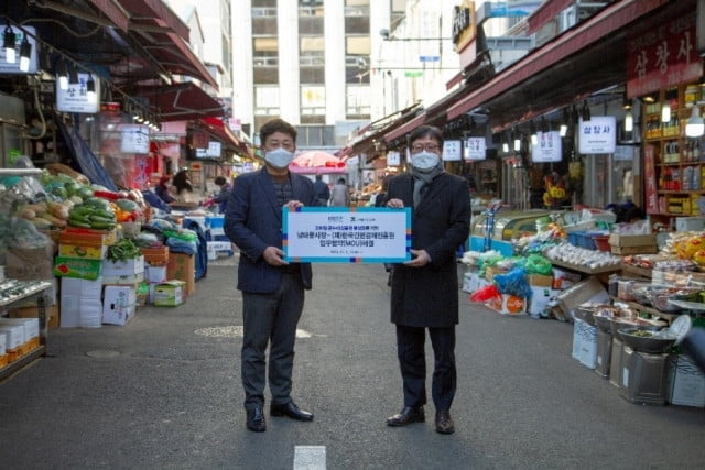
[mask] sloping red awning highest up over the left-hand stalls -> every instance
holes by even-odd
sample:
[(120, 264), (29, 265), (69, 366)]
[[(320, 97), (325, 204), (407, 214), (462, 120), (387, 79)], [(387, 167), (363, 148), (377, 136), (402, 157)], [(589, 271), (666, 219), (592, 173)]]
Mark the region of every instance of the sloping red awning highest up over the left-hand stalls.
[[(188, 28), (162, 0), (91, 0), (94, 6), (139, 43), (159, 67), (218, 88), (206, 66), (188, 46)], [(151, 56), (151, 57), (150, 57)]]

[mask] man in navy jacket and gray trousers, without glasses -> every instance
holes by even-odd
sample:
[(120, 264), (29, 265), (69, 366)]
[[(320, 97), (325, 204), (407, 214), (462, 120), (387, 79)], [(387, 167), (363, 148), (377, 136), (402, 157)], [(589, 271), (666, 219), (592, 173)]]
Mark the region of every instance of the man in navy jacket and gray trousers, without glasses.
[[(289, 263), (282, 251), (282, 207), (315, 206), (313, 182), (289, 172), (296, 129), (274, 119), (260, 129), (264, 168), (238, 176), (225, 215), (225, 233), (240, 249), (237, 288), (242, 292), (241, 374), (247, 428), (267, 430), (264, 385), (272, 394), (270, 415), (313, 420), (291, 397), (296, 325), (304, 291), (312, 287), (311, 263)], [(269, 346), (269, 373), (267, 347)]]

